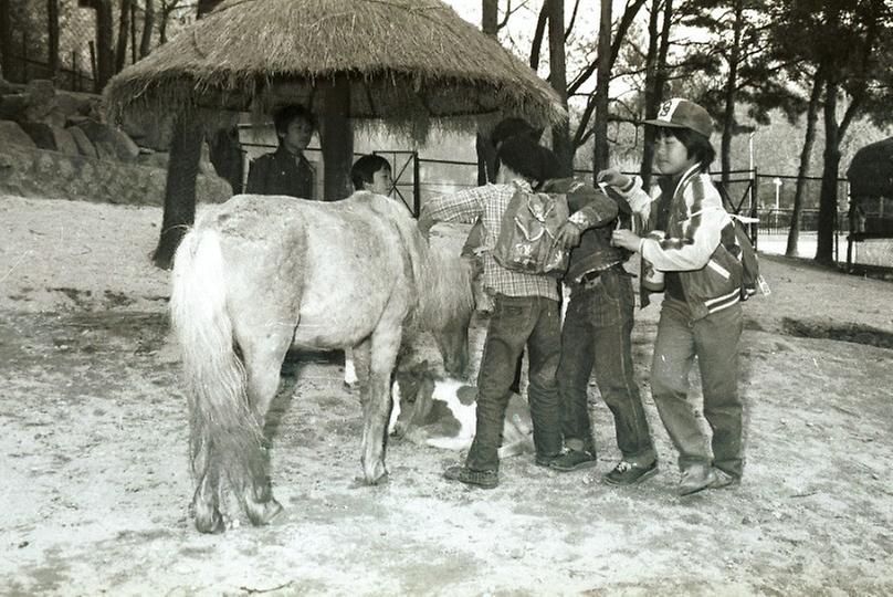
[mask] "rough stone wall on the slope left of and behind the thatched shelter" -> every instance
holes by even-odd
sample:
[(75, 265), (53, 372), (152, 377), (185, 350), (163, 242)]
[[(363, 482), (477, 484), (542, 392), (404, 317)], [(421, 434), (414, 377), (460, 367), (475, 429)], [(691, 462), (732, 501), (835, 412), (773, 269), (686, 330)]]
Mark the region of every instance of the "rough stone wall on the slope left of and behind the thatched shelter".
[[(168, 128), (144, 123), (128, 135), (103, 122), (97, 95), (56, 91), (49, 81), (0, 80), (0, 193), (161, 206)], [(145, 130), (155, 133), (144, 137)], [(206, 145), (197, 199), (220, 202), (231, 195)]]

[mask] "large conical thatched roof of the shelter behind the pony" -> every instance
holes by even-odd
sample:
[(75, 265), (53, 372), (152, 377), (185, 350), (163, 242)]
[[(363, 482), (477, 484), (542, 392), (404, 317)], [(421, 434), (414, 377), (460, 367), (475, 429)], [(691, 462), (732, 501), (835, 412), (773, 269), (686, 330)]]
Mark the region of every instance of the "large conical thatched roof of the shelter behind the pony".
[(350, 81), (350, 116), (427, 128), (431, 117), (566, 117), (526, 64), (439, 0), (228, 0), (106, 87), (113, 118), (211, 109), (323, 113), (319, 84)]

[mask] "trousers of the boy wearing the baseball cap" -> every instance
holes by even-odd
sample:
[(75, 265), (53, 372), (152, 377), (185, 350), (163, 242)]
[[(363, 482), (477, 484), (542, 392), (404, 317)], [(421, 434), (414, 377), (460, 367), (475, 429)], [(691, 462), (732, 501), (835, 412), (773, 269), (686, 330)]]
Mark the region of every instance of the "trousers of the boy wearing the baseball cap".
[[(713, 465), (739, 478), (742, 452), (742, 401), (738, 396), (738, 344), (742, 307), (736, 304), (692, 321), (689, 306), (664, 297), (654, 359), (651, 394), (666, 432), (679, 451), (679, 467)], [(711, 447), (689, 402), (689, 373), (694, 358), (701, 371), (704, 418), (713, 430)]]

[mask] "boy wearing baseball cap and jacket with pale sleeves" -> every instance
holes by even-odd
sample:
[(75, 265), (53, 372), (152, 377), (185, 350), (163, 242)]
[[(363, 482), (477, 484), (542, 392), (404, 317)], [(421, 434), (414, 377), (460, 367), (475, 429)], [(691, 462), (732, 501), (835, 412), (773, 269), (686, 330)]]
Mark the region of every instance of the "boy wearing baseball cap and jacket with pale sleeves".
[[(722, 241), (729, 216), (707, 168), (715, 157), (707, 111), (687, 100), (665, 102), (645, 125), (658, 127), (652, 199), (641, 179), (599, 172), (648, 221), (645, 237), (616, 230), (612, 242), (641, 253), (645, 269), (664, 274), (664, 298), (654, 341), (651, 392), (679, 451), (679, 494), (737, 484), (743, 470), (738, 344), (742, 333), (742, 265)], [(643, 294), (642, 306), (648, 305)], [(697, 357), (703, 415), (701, 430), (687, 402), (689, 371)]]

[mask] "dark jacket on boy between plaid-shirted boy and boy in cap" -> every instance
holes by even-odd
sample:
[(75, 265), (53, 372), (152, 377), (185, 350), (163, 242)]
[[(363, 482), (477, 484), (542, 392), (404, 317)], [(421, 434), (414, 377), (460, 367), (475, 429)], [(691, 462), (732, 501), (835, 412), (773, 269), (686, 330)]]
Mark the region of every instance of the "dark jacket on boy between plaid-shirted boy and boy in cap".
[(611, 247), (611, 231), (618, 214), (627, 218), (631, 213), (629, 205), (622, 199), (614, 200), (592, 185), (575, 178), (558, 178), (547, 181), (544, 192), (565, 193), (571, 213), (582, 210), (587, 213), (591, 228), (584, 231), (580, 244), (570, 252), (565, 280), (578, 282), (579, 279), (593, 271), (607, 270), (611, 265), (622, 263), (629, 252)]

